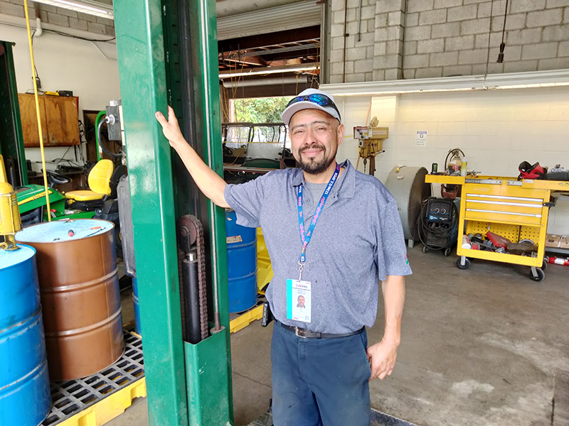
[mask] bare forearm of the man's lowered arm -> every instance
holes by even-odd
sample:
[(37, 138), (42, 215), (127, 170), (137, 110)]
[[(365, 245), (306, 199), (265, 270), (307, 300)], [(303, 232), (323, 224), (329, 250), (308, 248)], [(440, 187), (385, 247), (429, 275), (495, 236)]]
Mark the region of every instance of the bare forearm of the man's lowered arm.
[(399, 346), (401, 341), (401, 317), (405, 303), (405, 278), (388, 275), (381, 282), (383, 304), (385, 307), (385, 331), (383, 340)]

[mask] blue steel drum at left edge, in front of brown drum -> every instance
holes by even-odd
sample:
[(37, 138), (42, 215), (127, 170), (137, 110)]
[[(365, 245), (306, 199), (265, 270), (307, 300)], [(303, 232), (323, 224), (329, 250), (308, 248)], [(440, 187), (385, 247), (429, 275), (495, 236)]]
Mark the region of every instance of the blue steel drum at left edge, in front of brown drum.
[(36, 250), (0, 249), (0, 425), (38, 426), (51, 398)]

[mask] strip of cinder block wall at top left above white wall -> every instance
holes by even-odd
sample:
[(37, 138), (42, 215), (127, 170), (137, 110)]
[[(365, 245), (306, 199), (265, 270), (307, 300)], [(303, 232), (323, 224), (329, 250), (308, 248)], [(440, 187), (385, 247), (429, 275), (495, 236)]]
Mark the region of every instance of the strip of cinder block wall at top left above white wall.
[[(112, 0), (102, 1), (112, 4)], [(90, 33), (110, 35), (115, 37), (115, 23), (112, 19), (99, 18), (98, 16), (87, 15), (86, 13), (70, 11), (48, 4), (38, 4), (42, 22), (51, 23), (63, 28), (73, 28), (75, 30), (89, 31)], [(23, 10), (23, 0), (0, 0), (0, 13), (6, 15), (25, 16)], [(28, 16), (36, 18), (34, 2), (28, 0)]]

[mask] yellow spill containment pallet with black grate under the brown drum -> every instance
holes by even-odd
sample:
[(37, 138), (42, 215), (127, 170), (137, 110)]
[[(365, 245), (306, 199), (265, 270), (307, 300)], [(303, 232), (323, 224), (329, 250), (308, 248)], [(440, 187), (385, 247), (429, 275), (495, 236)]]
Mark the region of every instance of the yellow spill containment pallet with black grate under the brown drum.
[(51, 383), (52, 409), (43, 426), (101, 426), (147, 395), (142, 340), (125, 332), (123, 356), (92, 376)]

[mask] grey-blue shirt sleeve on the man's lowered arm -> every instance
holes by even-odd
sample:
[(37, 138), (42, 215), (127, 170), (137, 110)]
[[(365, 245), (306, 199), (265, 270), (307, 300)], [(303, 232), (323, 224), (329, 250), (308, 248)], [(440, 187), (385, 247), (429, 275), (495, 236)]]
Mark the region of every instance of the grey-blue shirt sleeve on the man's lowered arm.
[(407, 258), (407, 247), (397, 203), (393, 197), (390, 198), (391, 200), (379, 209), (377, 262), (379, 279), (382, 281), (387, 275), (411, 275), (413, 273)]

